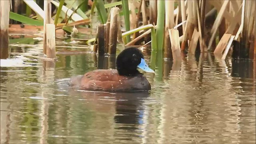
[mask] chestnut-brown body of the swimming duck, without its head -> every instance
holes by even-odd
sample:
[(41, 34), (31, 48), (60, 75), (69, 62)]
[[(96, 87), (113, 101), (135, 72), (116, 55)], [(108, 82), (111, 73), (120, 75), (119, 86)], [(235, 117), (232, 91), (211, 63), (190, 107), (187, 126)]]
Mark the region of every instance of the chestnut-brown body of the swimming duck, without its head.
[(132, 92), (150, 90), (148, 80), (142, 75), (120, 76), (117, 70), (94, 70), (71, 78), (70, 86), (82, 90), (106, 92)]

